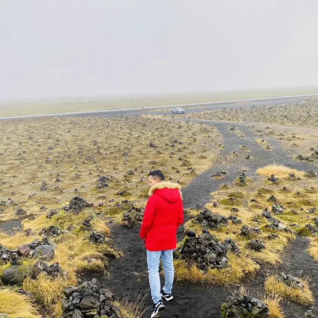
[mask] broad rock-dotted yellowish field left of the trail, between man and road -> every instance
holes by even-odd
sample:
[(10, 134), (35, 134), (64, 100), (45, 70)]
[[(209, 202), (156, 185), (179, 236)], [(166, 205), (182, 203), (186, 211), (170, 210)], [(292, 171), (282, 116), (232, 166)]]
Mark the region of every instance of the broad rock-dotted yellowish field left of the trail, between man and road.
[[(59, 208), (76, 194), (96, 210), (109, 200), (142, 203), (150, 170), (160, 168), (167, 180), (184, 185), (213, 164), (221, 142), (212, 126), (143, 117), (5, 121), (0, 137), (1, 198), (23, 206), (27, 216)], [(101, 175), (107, 188), (96, 187)], [(4, 210), (1, 220), (13, 218), (16, 206)]]

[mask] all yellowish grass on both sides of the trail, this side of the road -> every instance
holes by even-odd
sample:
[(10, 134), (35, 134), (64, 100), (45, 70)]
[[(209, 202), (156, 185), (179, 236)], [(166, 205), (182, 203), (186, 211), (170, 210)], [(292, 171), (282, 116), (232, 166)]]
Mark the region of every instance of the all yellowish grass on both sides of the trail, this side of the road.
[[(313, 104), (308, 110), (310, 114), (315, 114)], [(300, 115), (297, 111), (292, 114), (296, 119)], [(312, 123), (312, 118), (307, 117)], [(259, 123), (256, 127), (249, 127), (256, 133), (256, 142), (264, 148), (268, 146), (272, 150), (266, 141), (267, 135), (279, 138), (286, 149), (298, 149), (304, 155), (311, 156), (311, 149), (317, 147), (315, 129), (273, 124), (268, 128), (267, 125)], [(237, 127), (229, 126), (229, 130), (235, 138), (235, 135), (244, 138)], [(39, 307), (14, 293), (14, 288), (3, 286), (0, 289), (0, 297), (1, 293), (14, 296), (5, 297), (2, 302), (0, 299), (0, 310), (10, 313), (13, 318), (39, 317), (39, 313), (42, 314), (40, 308), (45, 309), (48, 317), (60, 317), (62, 291), (66, 286), (76, 284), (82, 273), (107, 275), (108, 257), (119, 258), (123, 254), (113, 248), (111, 233), (105, 222), (112, 220), (122, 223), (123, 212), (129, 208), (122, 203), (123, 200), (137, 207), (145, 206), (150, 170), (160, 168), (166, 180), (184, 186), (212, 166), (222, 149), (222, 135), (212, 125), (206, 127), (199, 123), (179, 122), (169, 116), (2, 121), (0, 138), (0, 201), (5, 202), (0, 205), (0, 221), (21, 217), (16, 215), (19, 207), (26, 212), (21, 217), (23, 230), (13, 236), (0, 233), (1, 244), (16, 248), (21, 243), (41, 239), (39, 231), (50, 225), (68, 230), (66, 234), (53, 238), (56, 247), (52, 260), (59, 262), (67, 271), (67, 276), (52, 279), (40, 275), (37, 279), (24, 279), (22, 288), (32, 293), (32, 299)], [(269, 181), (271, 174), (279, 179)], [(101, 176), (105, 181), (102, 185), (98, 181)], [(93, 208), (84, 209), (78, 215), (65, 212), (62, 206), (75, 195), (81, 195), (87, 202), (93, 203)], [(262, 216), (262, 211), (265, 208), (270, 210), (273, 202), (285, 207), (281, 214), (273, 217), (290, 230), (266, 227), (268, 220)], [(211, 201), (206, 207), (222, 216), (236, 215), (242, 223), (229, 221), (227, 227), (210, 232), (220, 241), (233, 239), (240, 253), (229, 251), (229, 266), (220, 270), (210, 268), (201, 271), (195, 264), (189, 265), (184, 259), (176, 259), (176, 280), (213, 283), (225, 285), (226, 288), (240, 284), (262, 264), (280, 264), (282, 251), (296, 235), (311, 240), (308, 252), (317, 260), (317, 237), (307, 227), (308, 224), (315, 225), (315, 214), (309, 213), (315, 206), (318, 206), (317, 178), (309, 177), (304, 171), (275, 164), (259, 167), (255, 175), (247, 178), (246, 184), (240, 184), (237, 178), (232, 184), (221, 186), (211, 193)], [(57, 210), (57, 214), (48, 219), (46, 214), (50, 209)], [(197, 209), (188, 211), (190, 219), (185, 223), (185, 229), (201, 234), (201, 225), (191, 219), (198, 213), (200, 211)], [(89, 242), (91, 230), (82, 225), (87, 218), (91, 218), (91, 230), (104, 235), (104, 242)], [(259, 227), (262, 232), (240, 235), (242, 225)], [(32, 229), (33, 234), (26, 237), (26, 229)], [(251, 250), (246, 245), (249, 239), (262, 240), (266, 248)], [(32, 266), (36, 260), (24, 259), (22, 265)], [(9, 263), (0, 263), (0, 277), (8, 266)], [(274, 275), (267, 278), (264, 295), (260, 298), (268, 302), (271, 318), (284, 317), (279, 305), (281, 299), (312, 304), (311, 284), (307, 277), (300, 278), (305, 283), (304, 290), (286, 288), (275, 280)], [(14, 307), (12, 301), (19, 302), (20, 306)], [(123, 312), (127, 311), (125, 317), (137, 318), (131, 314), (130, 304), (119, 305)]]

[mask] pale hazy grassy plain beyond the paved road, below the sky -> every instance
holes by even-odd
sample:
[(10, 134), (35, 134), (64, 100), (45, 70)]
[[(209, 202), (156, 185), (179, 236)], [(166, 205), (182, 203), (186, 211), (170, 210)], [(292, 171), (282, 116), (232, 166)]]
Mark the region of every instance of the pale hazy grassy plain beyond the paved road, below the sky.
[(318, 93), (317, 87), (224, 92), (166, 93), (118, 96), (59, 97), (0, 101), (0, 117), (191, 104), (222, 100)]

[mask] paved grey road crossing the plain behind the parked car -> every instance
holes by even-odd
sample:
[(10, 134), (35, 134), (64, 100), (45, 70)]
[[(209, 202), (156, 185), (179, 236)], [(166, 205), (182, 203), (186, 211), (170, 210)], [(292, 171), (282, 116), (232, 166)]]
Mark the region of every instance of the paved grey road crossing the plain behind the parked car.
[[(265, 97), (255, 99), (240, 99), (230, 101), (220, 101), (211, 103), (198, 103), (198, 104), (187, 104), (187, 105), (174, 105), (174, 106), (158, 106), (158, 107), (147, 107), (147, 108), (124, 108), (124, 109), (108, 109), (102, 111), (87, 111), (87, 112), (75, 112), (75, 113), (56, 113), (56, 114), (43, 114), (43, 115), (26, 115), (26, 116), (14, 116), (14, 117), (0, 117), (0, 120), (8, 119), (21, 119), (21, 118), (33, 118), (33, 117), (56, 117), (56, 116), (68, 116), (68, 117), (87, 117), (87, 116), (99, 116), (99, 117), (114, 117), (120, 115), (142, 115), (142, 114), (155, 114), (162, 115), (169, 113), (167, 110), (160, 110), (162, 108), (172, 108), (176, 106), (182, 106), (186, 108), (187, 113), (200, 112), (204, 109), (217, 110), (226, 108), (239, 108), (239, 107), (251, 107), (252, 105), (275, 105), (284, 103), (298, 103), (301, 100), (317, 97), (318, 94), (314, 95), (301, 95), (301, 96), (283, 96), (283, 97)], [(187, 108), (191, 107), (191, 108)]]

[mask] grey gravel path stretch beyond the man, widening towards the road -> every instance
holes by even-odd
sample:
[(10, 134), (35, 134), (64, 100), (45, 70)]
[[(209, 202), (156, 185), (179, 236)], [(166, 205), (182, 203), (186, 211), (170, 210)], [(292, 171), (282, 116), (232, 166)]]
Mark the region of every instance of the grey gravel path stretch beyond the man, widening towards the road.
[[(273, 137), (263, 137), (273, 147), (272, 151), (264, 150), (260, 144), (255, 140), (260, 137), (254, 131), (246, 128), (247, 123), (233, 123), (209, 120), (195, 120), (191, 122), (202, 123), (205, 125), (214, 125), (218, 131), (223, 135), (223, 144), (225, 146), (219, 162), (214, 164), (210, 169), (204, 171), (192, 180), (186, 187), (182, 189), (183, 204), (185, 208), (196, 206), (196, 204), (205, 204), (210, 200), (210, 193), (217, 190), (223, 183), (232, 182), (240, 173), (241, 167), (246, 167), (248, 172), (246, 175), (254, 175), (255, 171), (262, 166), (270, 163), (277, 163), (295, 168), (298, 170), (310, 170), (315, 164), (308, 164), (302, 161), (296, 161), (291, 158), (291, 154), (286, 152), (281, 145), (280, 141)], [(229, 131), (229, 126), (235, 125), (245, 134), (245, 138), (239, 138), (237, 135)], [(245, 145), (250, 152), (241, 149)], [(239, 157), (232, 157), (231, 153), (236, 151)], [(251, 159), (244, 159), (247, 155)], [(215, 171), (226, 170), (228, 175), (224, 179), (214, 179), (211, 174)], [(195, 195), (193, 195), (195, 193)]]

